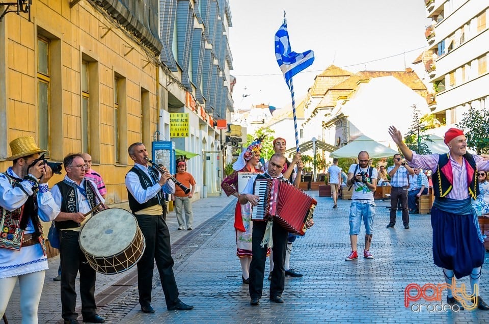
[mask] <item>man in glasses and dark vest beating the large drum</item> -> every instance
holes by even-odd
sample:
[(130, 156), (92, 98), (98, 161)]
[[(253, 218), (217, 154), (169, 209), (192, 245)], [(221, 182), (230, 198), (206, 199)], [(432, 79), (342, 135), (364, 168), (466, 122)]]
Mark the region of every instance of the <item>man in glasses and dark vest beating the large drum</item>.
[(91, 213), (87, 216), (85, 214), (99, 203), (103, 204), (104, 200), (95, 183), (85, 179), (89, 166), (85, 164), (81, 154), (68, 154), (63, 159), (63, 166), (66, 171), (64, 180), (51, 189), (52, 197), (60, 206), (61, 214), (71, 214), (71, 220), (56, 221), (56, 226), (61, 229), (61, 316), (65, 324), (78, 323), (78, 313), (75, 311), (75, 279), (79, 272), (83, 321), (103, 323), (105, 319), (97, 314), (95, 305), (96, 272), (80, 249), (78, 236), (83, 224), (91, 217)]

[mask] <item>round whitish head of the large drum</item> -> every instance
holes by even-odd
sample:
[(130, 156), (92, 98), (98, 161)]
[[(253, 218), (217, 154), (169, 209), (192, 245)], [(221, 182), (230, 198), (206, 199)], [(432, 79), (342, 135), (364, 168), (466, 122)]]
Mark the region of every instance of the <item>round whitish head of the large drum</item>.
[(138, 223), (122, 208), (105, 209), (93, 215), (80, 232), (80, 248), (94, 257), (106, 257), (131, 245)]

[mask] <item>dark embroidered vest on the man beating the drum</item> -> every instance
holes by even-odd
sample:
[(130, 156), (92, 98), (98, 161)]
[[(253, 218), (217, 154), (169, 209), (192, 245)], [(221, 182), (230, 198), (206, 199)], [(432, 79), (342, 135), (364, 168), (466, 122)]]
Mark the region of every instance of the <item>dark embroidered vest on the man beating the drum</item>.
[[(63, 180), (56, 184), (61, 193), (61, 206), (60, 210), (62, 212), (78, 212), (78, 193), (76, 191), (76, 185), (72, 182)], [(88, 181), (85, 179), (83, 182), (84, 190), (87, 193), (87, 200), (90, 204), (90, 208), (96, 206), (95, 203), (95, 192), (92, 189), (92, 186), (88, 184)], [(56, 220), (55, 220), (56, 221)], [(56, 221), (56, 227), (60, 230), (66, 228), (80, 227), (80, 223), (76, 223), (75, 221)]]

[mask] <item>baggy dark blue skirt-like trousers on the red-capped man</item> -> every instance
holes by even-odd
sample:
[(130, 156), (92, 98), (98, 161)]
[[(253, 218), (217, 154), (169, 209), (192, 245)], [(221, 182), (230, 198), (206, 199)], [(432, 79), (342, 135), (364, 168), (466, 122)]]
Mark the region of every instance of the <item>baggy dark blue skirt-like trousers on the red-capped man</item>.
[(431, 208), (433, 261), (439, 267), (453, 270), (460, 279), (484, 263), (484, 245), (471, 214), (459, 215)]

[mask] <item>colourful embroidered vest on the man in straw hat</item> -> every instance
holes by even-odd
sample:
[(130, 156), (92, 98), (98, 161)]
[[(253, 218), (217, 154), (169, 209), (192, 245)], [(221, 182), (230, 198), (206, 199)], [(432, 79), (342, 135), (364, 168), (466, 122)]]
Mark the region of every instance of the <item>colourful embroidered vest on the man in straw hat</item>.
[[(12, 178), (7, 172), (3, 173), (7, 179), (10, 181), (12, 187), (20, 186), (19, 182)], [(34, 199), (36, 199), (36, 193), (34, 193)], [(37, 205), (35, 208), (35, 213), (37, 215)], [(20, 228), (20, 221), (22, 217), (29, 217), (29, 215), (24, 215), (24, 205), (20, 208), (17, 208), (13, 211), (5, 209), (0, 206), (0, 215), (1, 215), (1, 223), (0, 223), (0, 248), (6, 248), (11, 250), (20, 250), (22, 247), (22, 237), (24, 236), (24, 230)], [(40, 237), (38, 237), (39, 242), (41, 243), (44, 255), (46, 255), (46, 246), (44, 245), (43, 233), (42, 233), (42, 225), (39, 221), (39, 217), (32, 218), (34, 220), (34, 227), (36, 231), (40, 233)]]

